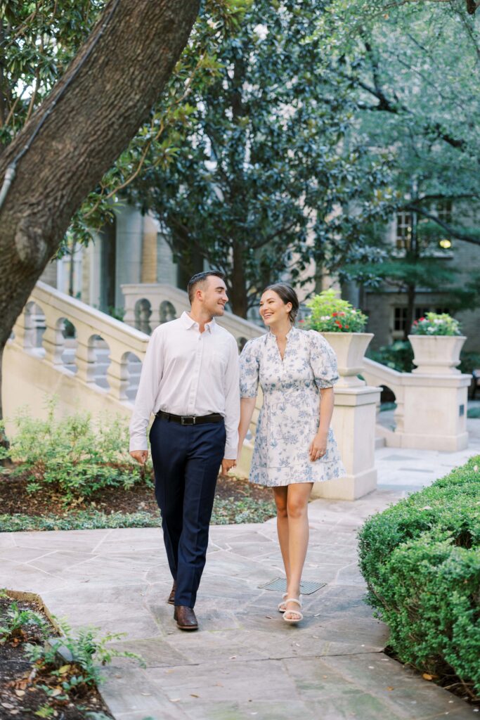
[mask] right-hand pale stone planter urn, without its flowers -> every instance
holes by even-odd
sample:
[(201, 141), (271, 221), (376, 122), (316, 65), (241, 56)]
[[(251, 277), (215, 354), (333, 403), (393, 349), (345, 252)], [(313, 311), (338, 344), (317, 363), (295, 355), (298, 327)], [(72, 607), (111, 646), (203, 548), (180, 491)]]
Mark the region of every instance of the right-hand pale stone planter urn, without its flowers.
[(417, 375), (460, 375), (460, 351), (466, 337), (463, 335), (409, 335), (417, 366)]

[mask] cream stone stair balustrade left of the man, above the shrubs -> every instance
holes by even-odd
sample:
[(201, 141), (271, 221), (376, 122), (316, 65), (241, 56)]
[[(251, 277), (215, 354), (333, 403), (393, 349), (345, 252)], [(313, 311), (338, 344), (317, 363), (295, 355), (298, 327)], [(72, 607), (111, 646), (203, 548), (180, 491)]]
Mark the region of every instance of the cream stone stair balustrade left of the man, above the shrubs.
[[(148, 340), (145, 333), (38, 282), (7, 343), (7, 363), (18, 350), (40, 359), (43, 369), (35, 374), (44, 378), (45, 392), (49, 392), (50, 386), (50, 392), (62, 395), (60, 404), (68, 400), (68, 393), (65, 397), (63, 391), (60, 393), (62, 379), (74, 379), (74, 384), (67, 382), (67, 385), (75, 388), (73, 394), (87, 408), (91, 409), (87, 391), (93, 390), (113, 402), (113, 405), (104, 404), (104, 409), (113, 407), (130, 414)], [(12, 398), (6, 402), (6, 413), (13, 403), (18, 406), (22, 400), (24, 404), (29, 402), (32, 395), (24, 397), (28, 395), (24, 389), (29, 382), (32, 378), (24, 377), (17, 385), (15, 401)], [(9, 398), (8, 387), (6, 396)]]

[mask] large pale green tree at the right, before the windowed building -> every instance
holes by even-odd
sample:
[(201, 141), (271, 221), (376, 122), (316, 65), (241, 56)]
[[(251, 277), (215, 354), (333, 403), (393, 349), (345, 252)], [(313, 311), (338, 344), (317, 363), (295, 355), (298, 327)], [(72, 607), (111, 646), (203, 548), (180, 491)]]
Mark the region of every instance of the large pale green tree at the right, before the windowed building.
[(383, 262), (366, 253), (342, 271), (404, 292), (408, 330), (422, 289), (441, 288), (450, 310), (479, 302), (478, 279), (458, 278), (449, 260), (452, 246), (480, 244), (478, 22), (461, 3), (382, 10), (338, 0), (319, 24), (320, 45), (335, 29), (330, 63), (355, 97), (351, 132), (365, 139), (368, 155), (389, 150), (389, 187), (379, 193), (402, 220), (395, 238), (382, 224), (368, 230)]

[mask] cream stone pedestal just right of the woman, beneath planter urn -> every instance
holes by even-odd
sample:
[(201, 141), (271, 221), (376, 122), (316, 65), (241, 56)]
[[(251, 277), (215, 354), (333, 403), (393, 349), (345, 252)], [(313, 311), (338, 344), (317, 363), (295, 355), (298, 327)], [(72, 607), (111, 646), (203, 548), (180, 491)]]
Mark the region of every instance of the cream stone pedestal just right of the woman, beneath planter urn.
[(332, 429), (347, 474), (315, 482), (312, 498), (356, 500), (376, 489), (375, 418), (380, 388), (335, 387)]

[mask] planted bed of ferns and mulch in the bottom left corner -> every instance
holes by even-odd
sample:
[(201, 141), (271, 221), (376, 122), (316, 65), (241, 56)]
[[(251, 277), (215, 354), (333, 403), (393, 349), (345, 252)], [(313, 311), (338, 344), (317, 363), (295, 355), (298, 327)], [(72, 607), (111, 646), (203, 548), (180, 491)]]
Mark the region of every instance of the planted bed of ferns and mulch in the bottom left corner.
[(0, 592), (0, 717), (112, 718), (97, 690), (101, 666), (119, 654), (140, 657), (110, 649), (117, 635), (99, 637), (92, 628), (74, 635), (63, 622), (55, 627), (37, 600), (10, 595)]

